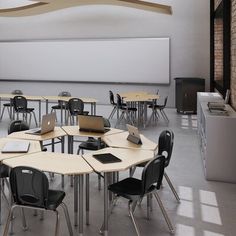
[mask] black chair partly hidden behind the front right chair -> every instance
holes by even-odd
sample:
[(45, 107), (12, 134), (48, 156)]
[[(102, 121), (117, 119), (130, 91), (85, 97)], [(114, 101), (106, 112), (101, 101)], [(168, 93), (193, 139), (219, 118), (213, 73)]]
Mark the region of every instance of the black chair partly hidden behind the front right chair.
[[(164, 177), (168, 183), (168, 185), (171, 188), (171, 191), (173, 192), (176, 200), (180, 202), (180, 198), (177, 194), (177, 191), (175, 190), (169, 176), (166, 173), (166, 168), (170, 164), (170, 159), (172, 156), (172, 151), (173, 151), (173, 146), (174, 146), (174, 133), (172, 130), (164, 130), (161, 132), (159, 139), (158, 139), (158, 155), (164, 155), (165, 156), (165, 172), (164, 172)], [(137, 165), (138, 167), (144, 167), (146, 163), (140, 163)], [(132, 170), (131, 176), (133, 175), (135, 171), (135, 168)]]

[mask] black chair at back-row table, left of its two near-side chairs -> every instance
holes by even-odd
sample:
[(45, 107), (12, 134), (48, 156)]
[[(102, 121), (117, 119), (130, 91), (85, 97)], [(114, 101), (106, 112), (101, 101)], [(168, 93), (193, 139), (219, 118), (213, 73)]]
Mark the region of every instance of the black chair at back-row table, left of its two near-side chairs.
[(29, 126), (31, 124), (31, 117), (32, 117), (32, 113), (33, 113), (35, 124), (36, 124), (36, 126), (38, 126), (37, 119), (36, 119), (36, 116), (35, 116), (35, 113), (34, 113), (34, 108), (29, 108), (28, 107), (28, 102), (27, 102), (27, 99), (25, 97), (20, 96), (20, 95), (15, 96), (13, 98), (13, 108), (14, 108), (14, 112), (16, 112), (16, 114), (17, 114), (17, 120), (19, 119), (19, 114), (20, 113), (23, 116), (23, 120), (26, 120), (26, 121), (27, 121), (27, 115), (28, 114), (30, 115), (30, 117), (29, 117)]

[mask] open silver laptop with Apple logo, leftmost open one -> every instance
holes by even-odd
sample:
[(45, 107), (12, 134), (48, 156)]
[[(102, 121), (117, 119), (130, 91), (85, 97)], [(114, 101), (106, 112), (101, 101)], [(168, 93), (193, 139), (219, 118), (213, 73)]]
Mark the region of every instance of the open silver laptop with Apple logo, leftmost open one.
[(56, 113), (50, 113), (43, 115), (42, 117), (42, 124), (40, 128), (30, 129), (26, 131), (26, 134), (36, 134), (36, 135), (42, 135), (46, 134), (48, 132), (51, 132), (55, 128), (56, 123)]

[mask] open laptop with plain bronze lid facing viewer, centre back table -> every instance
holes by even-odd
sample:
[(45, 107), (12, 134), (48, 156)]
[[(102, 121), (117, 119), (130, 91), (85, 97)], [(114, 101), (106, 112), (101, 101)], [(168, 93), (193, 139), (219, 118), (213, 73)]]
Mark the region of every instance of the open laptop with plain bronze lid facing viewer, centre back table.
[(106, 133), (109, 128), (104, 127), (102, 116), (78, 115), (79, 130), (84, 132)]

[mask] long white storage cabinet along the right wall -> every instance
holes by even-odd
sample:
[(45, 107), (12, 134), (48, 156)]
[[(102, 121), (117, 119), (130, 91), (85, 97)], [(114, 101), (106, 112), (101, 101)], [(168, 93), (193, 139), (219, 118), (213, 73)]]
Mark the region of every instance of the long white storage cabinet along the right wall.
[(236, 112), (226, 105), (228, 115), (213, 115), (207, 103), (222, 101), (218, 93), (197, 94), (198, 136), (205, 177), (236, 183)]

